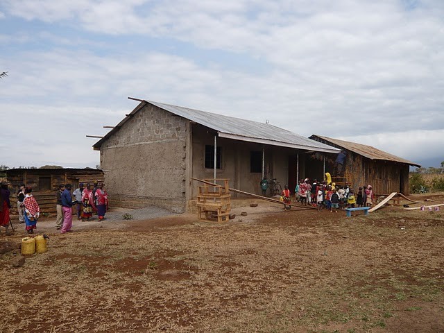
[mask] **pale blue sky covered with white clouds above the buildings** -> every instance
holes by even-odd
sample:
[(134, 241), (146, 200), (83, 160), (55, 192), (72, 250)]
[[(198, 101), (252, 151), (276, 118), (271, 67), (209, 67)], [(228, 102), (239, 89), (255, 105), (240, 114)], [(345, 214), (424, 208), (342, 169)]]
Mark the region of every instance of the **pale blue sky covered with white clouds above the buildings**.
[(95, 167), (128, 96), (444, 160), (442, 0), (1, 0), (0, 164)]

